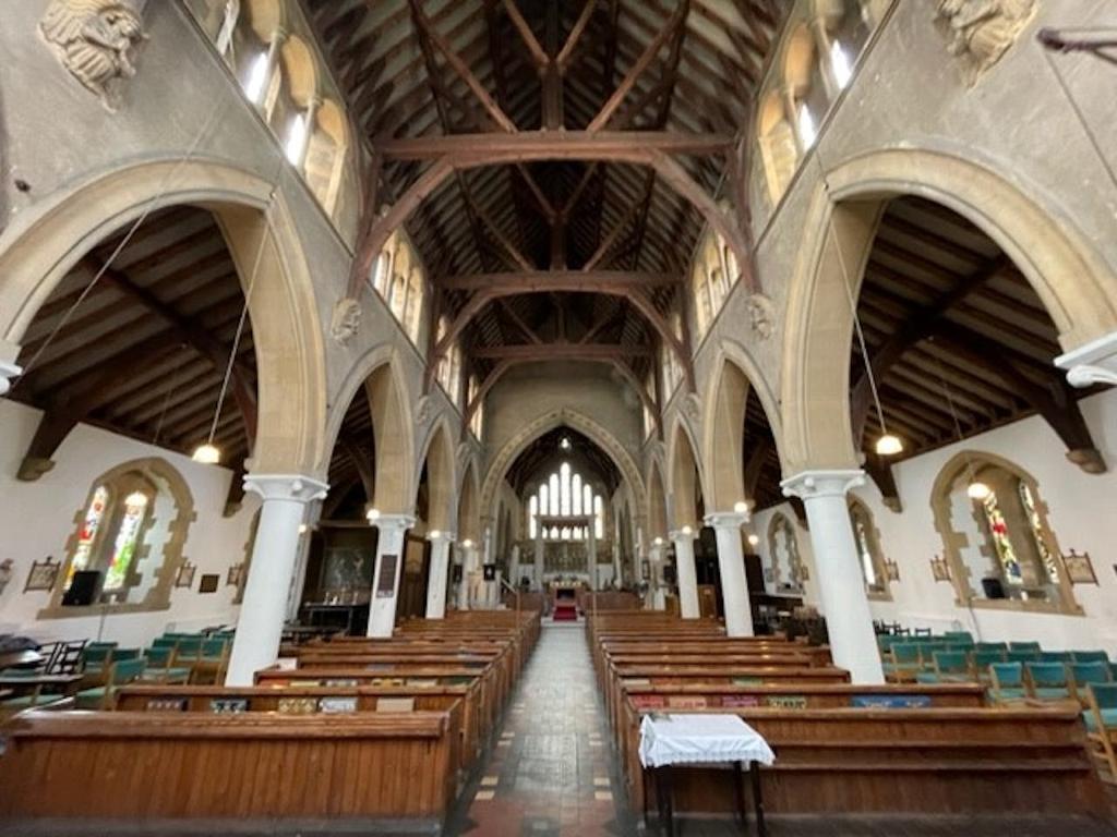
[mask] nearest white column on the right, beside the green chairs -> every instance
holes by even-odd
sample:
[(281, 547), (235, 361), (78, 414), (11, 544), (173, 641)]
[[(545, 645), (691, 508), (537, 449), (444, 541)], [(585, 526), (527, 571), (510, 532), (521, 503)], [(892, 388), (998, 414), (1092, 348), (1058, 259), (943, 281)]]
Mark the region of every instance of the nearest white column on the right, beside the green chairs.
[(846, 504), (846, 492), (863, 482), (858, 470), (803, 471), (781, 484), (785, 496), (802, 498), (806, 507), (834, 664), (848, 668), (855, 683), (872, 684), (884, 683), (885, 675)]

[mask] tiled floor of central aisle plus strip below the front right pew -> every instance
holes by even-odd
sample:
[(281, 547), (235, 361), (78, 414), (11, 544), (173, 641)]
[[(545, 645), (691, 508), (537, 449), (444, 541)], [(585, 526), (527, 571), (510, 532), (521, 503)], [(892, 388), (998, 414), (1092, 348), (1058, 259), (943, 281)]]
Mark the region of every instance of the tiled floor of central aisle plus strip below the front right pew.
[[(1056, 814), (1056, 812), (1052, 812)], [(450, 837), (636, 837), (584, 626), (546, 625), (486, 763), (447, 827)], [(747, 834), (755, 834), (753, 824)], [(677, 837), (746, 834), (731, 820), (689, 819)], [(655, 827), (649, 837), (657, 835)], [(1115, 837), (1075, 817), (770, 818), (770, 837)]]

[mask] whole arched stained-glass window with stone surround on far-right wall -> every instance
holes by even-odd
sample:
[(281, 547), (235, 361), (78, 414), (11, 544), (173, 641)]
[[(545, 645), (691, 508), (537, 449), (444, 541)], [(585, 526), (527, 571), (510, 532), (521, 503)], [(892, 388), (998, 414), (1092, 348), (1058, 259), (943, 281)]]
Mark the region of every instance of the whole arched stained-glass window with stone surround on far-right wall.
[(932, 508), (960, 602), (1079, 612), (1029, 473), (992, 454), (961, 453), (939, 472)]

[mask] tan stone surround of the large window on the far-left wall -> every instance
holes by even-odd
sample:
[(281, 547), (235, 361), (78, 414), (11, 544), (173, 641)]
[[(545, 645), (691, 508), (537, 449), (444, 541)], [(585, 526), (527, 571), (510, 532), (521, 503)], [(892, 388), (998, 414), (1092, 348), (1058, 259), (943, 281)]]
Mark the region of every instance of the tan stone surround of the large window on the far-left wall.
[[(145, 456), (123, 462), (94, 478), (89, 484), (89, 494), (83, 499), (82, 506), (74, 512), (69, 537), (66, 540), (66, 559), (63, 561), (61, 569), (58, 573), (55, 588), (50, 591), (50, 604), (39, 610), (37, 618), (90, 616), (102, 615), (105, 612), (105, 608), (101, 605), (63, 607), (63, 581), (69, 570), (70, 561), (74, 559), (74, 552), (77, 548), (77, 529), (85, 520), (85, 512), (89, 507), (92, 492), (99, 483), (111, 482), (133, 471), (151, 480), (156, 485), (166, 485), (174, 501), (175, 516), (173, 520), (168, 521), (168, 537), (162, 546), (162, 561), (159, 567), (152, 570), (156, 576), (155, 584), (151, 586), (142, 602), (126, 602), (111, 605), (107, 613), (124, 614), (170, 609), (174, 579), (178, 576), (179, 568), (185, 561), (184, 549), (187, 538), (190, 535), (190, 525), (198, 518), (198, 513), (194, 511), (193, 492), (179, 470), (162, 456)], [(144, 552), (147, 549), (149, 546), (144, 545)]]

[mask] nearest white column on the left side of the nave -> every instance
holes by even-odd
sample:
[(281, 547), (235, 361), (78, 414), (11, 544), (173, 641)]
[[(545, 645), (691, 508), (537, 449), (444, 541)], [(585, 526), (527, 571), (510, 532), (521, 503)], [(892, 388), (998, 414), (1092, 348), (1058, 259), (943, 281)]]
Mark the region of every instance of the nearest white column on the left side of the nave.
[(321, 500), (328, 489), (324, 482), (298, 474), (245, 478), (245, 490), (259, 494), (264, 503), (226, 685), (252, 685), (256, 672), (273, 665), (279, 656), (287, 593), (298, 555), (298, 528), (306, 504)]

